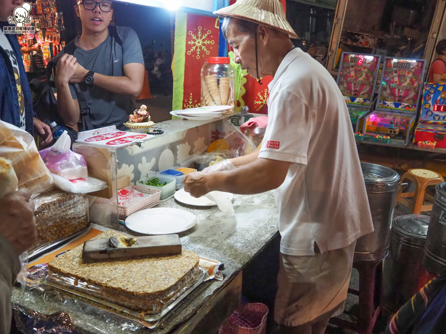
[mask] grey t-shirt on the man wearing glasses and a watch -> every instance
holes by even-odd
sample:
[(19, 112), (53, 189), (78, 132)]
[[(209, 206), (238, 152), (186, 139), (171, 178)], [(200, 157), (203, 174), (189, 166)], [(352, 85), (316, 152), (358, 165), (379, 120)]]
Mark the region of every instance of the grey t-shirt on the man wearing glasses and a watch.
[[(92, 50), (77, 47), (74, 56), (78, 63), (87, 70), (115, 77), (124, 75), (123, 66), (126, 64), (144, 64), (136, 32), (128, 27), (116, 27), (116, 33), (122, 41), (122, 47), (109, 35), (99, 47)], [(62, 54), (63, 50), (57, 58)], [(70, 91), (76, 99), (76, 92), (71, 85)], [(122, 129), (122, 123), (128, 120), (128, 115), (136, 108), (133, 96), (113, 93), (96, 85), (87, 89), (87, 99), (90, 118), (95, 128), (116, 125), (118, 129)]]

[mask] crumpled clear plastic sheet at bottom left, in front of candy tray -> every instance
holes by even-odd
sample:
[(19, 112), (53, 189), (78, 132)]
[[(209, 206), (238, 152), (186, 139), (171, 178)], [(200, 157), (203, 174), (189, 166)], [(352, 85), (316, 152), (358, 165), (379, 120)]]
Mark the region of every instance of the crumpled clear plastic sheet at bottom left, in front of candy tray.
[[(132, 333), (146, 328), (146, 326), (137, 321), (119, 317), (113, 313), (88, 305), (81, 300), (64, 297), (56, 290), (43, 289), (37, 286), (24, 291), (23, 294), (22, 298), (26, 298), (27, 301), (54, 301), (54, 305), (58, 305), (58, 308), (63, 309), (45, 315), (26, 306), (13, 303), (12, 309), (16, 327), (25, 334), (80, 334), (85, 333), (87, 329), (91, 333), (108, 334), (111, 332), (111, 329), (121, 331), (122, 333)], [(79, 328), (79, 324), (72, 321), (71, 312), (82, 314), (82, 329)], [(107, 324), (105, 328), (98, 327), (98, 315), (105, 320), (104, 323)]]

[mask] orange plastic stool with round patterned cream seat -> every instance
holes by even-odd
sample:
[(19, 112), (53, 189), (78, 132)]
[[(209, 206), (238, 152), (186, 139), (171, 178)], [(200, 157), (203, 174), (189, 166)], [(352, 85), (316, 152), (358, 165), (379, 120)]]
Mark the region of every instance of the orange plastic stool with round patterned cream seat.
[[(434, 201), (434, 197), (426, 193), (428, 186), (435, 186), (439, 183), (445, 182), (443, 177), (437, 173), (430, 171), (429, 169), (409, 169), (401, 177), (401, 183), (404, 180), (410, 180), (415, 184), (415, 191), (399, 192), (396, 197), (396, 202), (401, 203), (412, 209), (412, 213), (418, 214), (422, 211), (431, 211), (432, 204), (424, 205), (424, 199), (428, 198)], [(406, 198), (412, 198), (408, 200)]]

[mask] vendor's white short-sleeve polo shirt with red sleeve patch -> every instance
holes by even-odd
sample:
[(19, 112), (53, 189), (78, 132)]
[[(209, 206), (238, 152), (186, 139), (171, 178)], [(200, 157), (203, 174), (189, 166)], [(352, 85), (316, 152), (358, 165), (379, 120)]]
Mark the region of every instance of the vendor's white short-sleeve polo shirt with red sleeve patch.
[(299, 48), (269, 85), (269, 123), (260, 158), (290, 162), (275, 190), (280, 251), (313, 255), (373, 232), (354, 134), (330, 73)]

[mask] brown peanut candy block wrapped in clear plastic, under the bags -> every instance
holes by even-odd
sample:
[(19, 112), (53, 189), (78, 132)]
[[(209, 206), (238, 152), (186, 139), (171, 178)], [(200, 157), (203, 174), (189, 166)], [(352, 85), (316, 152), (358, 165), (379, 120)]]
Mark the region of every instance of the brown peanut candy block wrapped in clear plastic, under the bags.
[(34, 198), (37, 240), (30, 251), (77, 235), (90, 226), (88, 199), (84, 194), (47, 191)]

